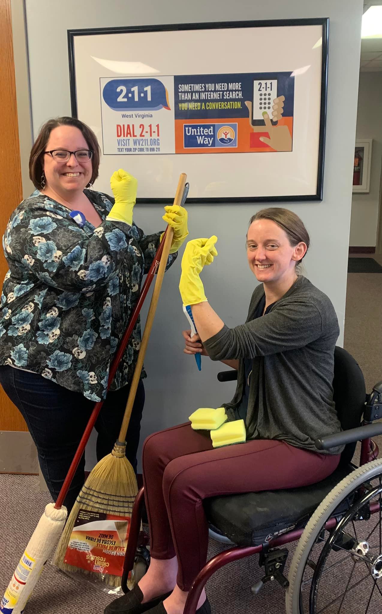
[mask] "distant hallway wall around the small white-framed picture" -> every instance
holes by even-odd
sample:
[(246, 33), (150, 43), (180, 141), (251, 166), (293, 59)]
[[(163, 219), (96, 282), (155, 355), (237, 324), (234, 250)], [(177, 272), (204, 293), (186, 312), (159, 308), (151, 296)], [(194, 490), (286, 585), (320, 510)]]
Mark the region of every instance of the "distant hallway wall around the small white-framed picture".
[(382, 72), (359, 75), (356, 138), (373, 139), (370, 192), (353, 194), (350, 245), (375, 246), (382, 163)]

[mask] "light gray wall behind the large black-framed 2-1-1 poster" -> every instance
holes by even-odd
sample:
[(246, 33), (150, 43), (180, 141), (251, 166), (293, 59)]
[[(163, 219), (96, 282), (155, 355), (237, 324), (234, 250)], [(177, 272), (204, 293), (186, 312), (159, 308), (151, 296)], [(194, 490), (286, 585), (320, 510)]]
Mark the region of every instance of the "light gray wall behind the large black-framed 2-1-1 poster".
[[(362, 0), (26, 0), (33, 126), (54, 115), (69, 115), (66, 30), (99, 26), (330, 17), (329, 98), (324, 200), (291, 204), (311, 233), (306, 276), (335, 306), (343, 338), (351, 183), (356, 129)], [(208, 49), (206, 49), (208, 53)], [(346, 104), (344, 104), (346, 101)], [(128, 163), (128, 158), (127, 158)], [(187, 172), (187, 168), (185, 168)], [(139, 177), (138, 177), (139, 179)], [(206, 295), (219, 316), (233, 327), (246, 317), (255, 279), (249, 271), (244, 240), (249, 217), (259, 205), (190, 206), (190, 237), (216, 234), (219, 257), (203, 271)], [(142, 206), (134, 220), (146, 231), (162, 228), (162, 208)], [(166, 274), (146, 357), (146, 408), (142, 440), (148, 433), (179, 421), (200, 406), (217, 407), (231, 398), (232, 384), (218, 384), (219, 364), (182, 354), (182, 314), (177, 285), (181, 258)], [(221, 365), (220, 365), (221, 366)]]

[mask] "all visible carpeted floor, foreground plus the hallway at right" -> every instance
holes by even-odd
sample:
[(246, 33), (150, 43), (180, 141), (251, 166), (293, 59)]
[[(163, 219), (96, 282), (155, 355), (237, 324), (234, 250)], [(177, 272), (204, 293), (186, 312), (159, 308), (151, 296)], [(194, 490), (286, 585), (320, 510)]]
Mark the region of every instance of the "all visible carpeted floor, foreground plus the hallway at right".
[[(376, 259), (382, 264), (381, 257)], [(381, 297), (382, 276), (368, 273), (349, 274), (345, 348), (359, 362), (369, 391), (374, 383), (382, 380)], [(382, 437), (377, 441), (382, 457)], [(359, 449), (354, 460), (357, 459)], [(37, 477), (0, 475), (0, 599), (49, 500), (48, 494), (39, 492)], [(211, 542), (209, 558), (222, 549), (220, 545)], [(289, 546), (289, 551), (290, 561), (294, 545)], [(284, 614), (284, 591), (278, 585), (268, 583), (257, 596), (252, 596), (251, 585), (263, 575), (257, 561), (257, 557), (237, 561), (221, 569), (209, 580), (207, 593), (213, 614)], [(334, 584), (335, 579), (328, 577), (328, 591)], [(25, 608), (25, 614), (102, 614), (104, 607), (111, 600), (111, 596), (92, 585), (72, 580), (47, 564)], [(379, 605), (368, 609), (368, 614), (381, 611), (382, 597)], [(325, 610), (327, 614), (332, 612), (338, 612), (338, 604), (333, 610)], [(354, 599), (353, 607), (346, 607), (346, 614), (359, 612), (359, 603)]]

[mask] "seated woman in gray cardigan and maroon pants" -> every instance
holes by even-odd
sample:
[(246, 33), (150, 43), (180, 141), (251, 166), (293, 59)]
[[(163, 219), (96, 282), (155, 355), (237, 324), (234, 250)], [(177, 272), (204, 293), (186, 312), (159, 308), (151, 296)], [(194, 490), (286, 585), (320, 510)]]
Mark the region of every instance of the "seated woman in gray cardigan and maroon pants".
[[(216, 237), (189, 241), (179, 289), (198, 335), (184, 331), (186, 354), (200, 352), (238, 370), (228, 421), (244, 419), (246, 441), (212, 448), (190, 423), (154, 433), (143, 448), (151, 562), (138, 585), (106, 614), (182, 614), (205, 565), (203, 500), (217, 495), (314, 484), (337, 468), (343, 446), (318, 451), (314, 440), (341, 430), (333, 403), (339, 328), (329, 298), (298, 271), (310, 238), (302, 220), (270, 208), (246, 237), (255, 287), (244, 324), (228, 328), (209, 305), (200, 273), (217, 255)], [(197, 614), (211, 612), (205, 591)]]

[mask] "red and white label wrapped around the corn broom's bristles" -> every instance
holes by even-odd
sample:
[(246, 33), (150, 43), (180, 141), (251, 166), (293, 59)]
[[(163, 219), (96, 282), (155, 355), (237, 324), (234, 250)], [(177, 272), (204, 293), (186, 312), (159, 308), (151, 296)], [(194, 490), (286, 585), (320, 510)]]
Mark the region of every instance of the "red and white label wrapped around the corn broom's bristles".
[(122, 576), (130, 517), (79, 510), (64, 562), (89, 572)]

